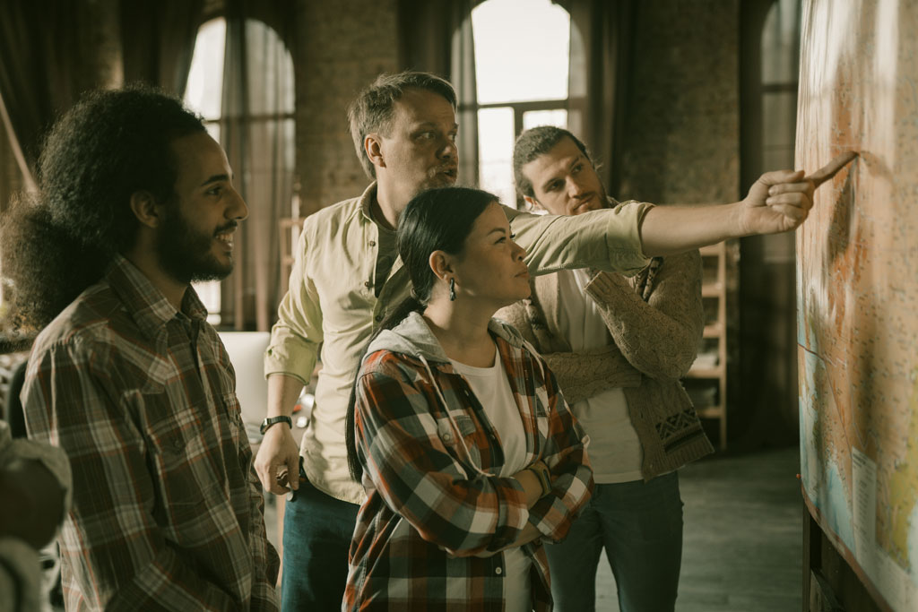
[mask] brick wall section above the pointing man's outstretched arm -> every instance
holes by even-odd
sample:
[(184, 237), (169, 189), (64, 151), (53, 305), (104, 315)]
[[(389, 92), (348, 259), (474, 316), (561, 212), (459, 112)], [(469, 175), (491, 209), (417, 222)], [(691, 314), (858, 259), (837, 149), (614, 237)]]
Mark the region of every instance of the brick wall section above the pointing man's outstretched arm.
[(644, 0), (621, 198), (661, 204), (739, 196), (739, 2)]

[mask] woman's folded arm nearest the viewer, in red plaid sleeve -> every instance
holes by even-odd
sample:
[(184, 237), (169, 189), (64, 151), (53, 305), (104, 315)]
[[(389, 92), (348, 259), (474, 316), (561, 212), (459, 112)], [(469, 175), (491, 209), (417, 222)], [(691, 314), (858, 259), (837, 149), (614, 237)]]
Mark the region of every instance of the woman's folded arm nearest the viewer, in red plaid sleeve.
[[(521, 482), (463, 466), (444, 445), (413, 374), (383, 369), (358, 379), (354, 424), (364, 473), (386, 505), (457, 556), (517, 540), (529, 519)], [(447, 440), (459, 443), (456, 435), (450, 430)]]

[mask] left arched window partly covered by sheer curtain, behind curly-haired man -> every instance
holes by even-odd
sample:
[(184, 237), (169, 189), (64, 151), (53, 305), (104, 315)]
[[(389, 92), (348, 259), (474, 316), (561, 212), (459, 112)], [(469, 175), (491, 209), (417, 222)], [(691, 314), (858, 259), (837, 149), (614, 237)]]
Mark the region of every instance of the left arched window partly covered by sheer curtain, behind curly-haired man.
[(223, 17), (207, 21), (198, 30), (185, 104), (227, 151), (249, 205), (234, 272), (196, 291), (211, 322), (266, 330), (277, 302), (278, 219), (290, 214), (295, 173), (294, 67), (284, 41), (256, 19), (236, 27)]

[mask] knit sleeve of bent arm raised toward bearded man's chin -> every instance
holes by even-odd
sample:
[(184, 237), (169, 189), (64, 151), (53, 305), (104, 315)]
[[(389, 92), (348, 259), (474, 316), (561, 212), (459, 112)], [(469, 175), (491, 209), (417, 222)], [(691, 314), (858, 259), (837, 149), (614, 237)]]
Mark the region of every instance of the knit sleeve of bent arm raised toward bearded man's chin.
[(625, 359), (654, 379), (689, 371), (704, 330), (701, 258), (697, 250), (667, 257), (644, 302), (619, 274), (599, 273), (587, 285)]

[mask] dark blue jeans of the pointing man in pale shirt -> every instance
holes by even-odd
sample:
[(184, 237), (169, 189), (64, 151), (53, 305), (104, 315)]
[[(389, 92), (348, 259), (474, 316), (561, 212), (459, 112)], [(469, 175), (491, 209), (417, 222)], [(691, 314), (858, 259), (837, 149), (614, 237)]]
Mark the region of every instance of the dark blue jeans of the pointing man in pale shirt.
[(306, 481), (287, 501), (281, 577), (281, 606), (285, 611), (341, 609), (347, 554), (359, 508)]

